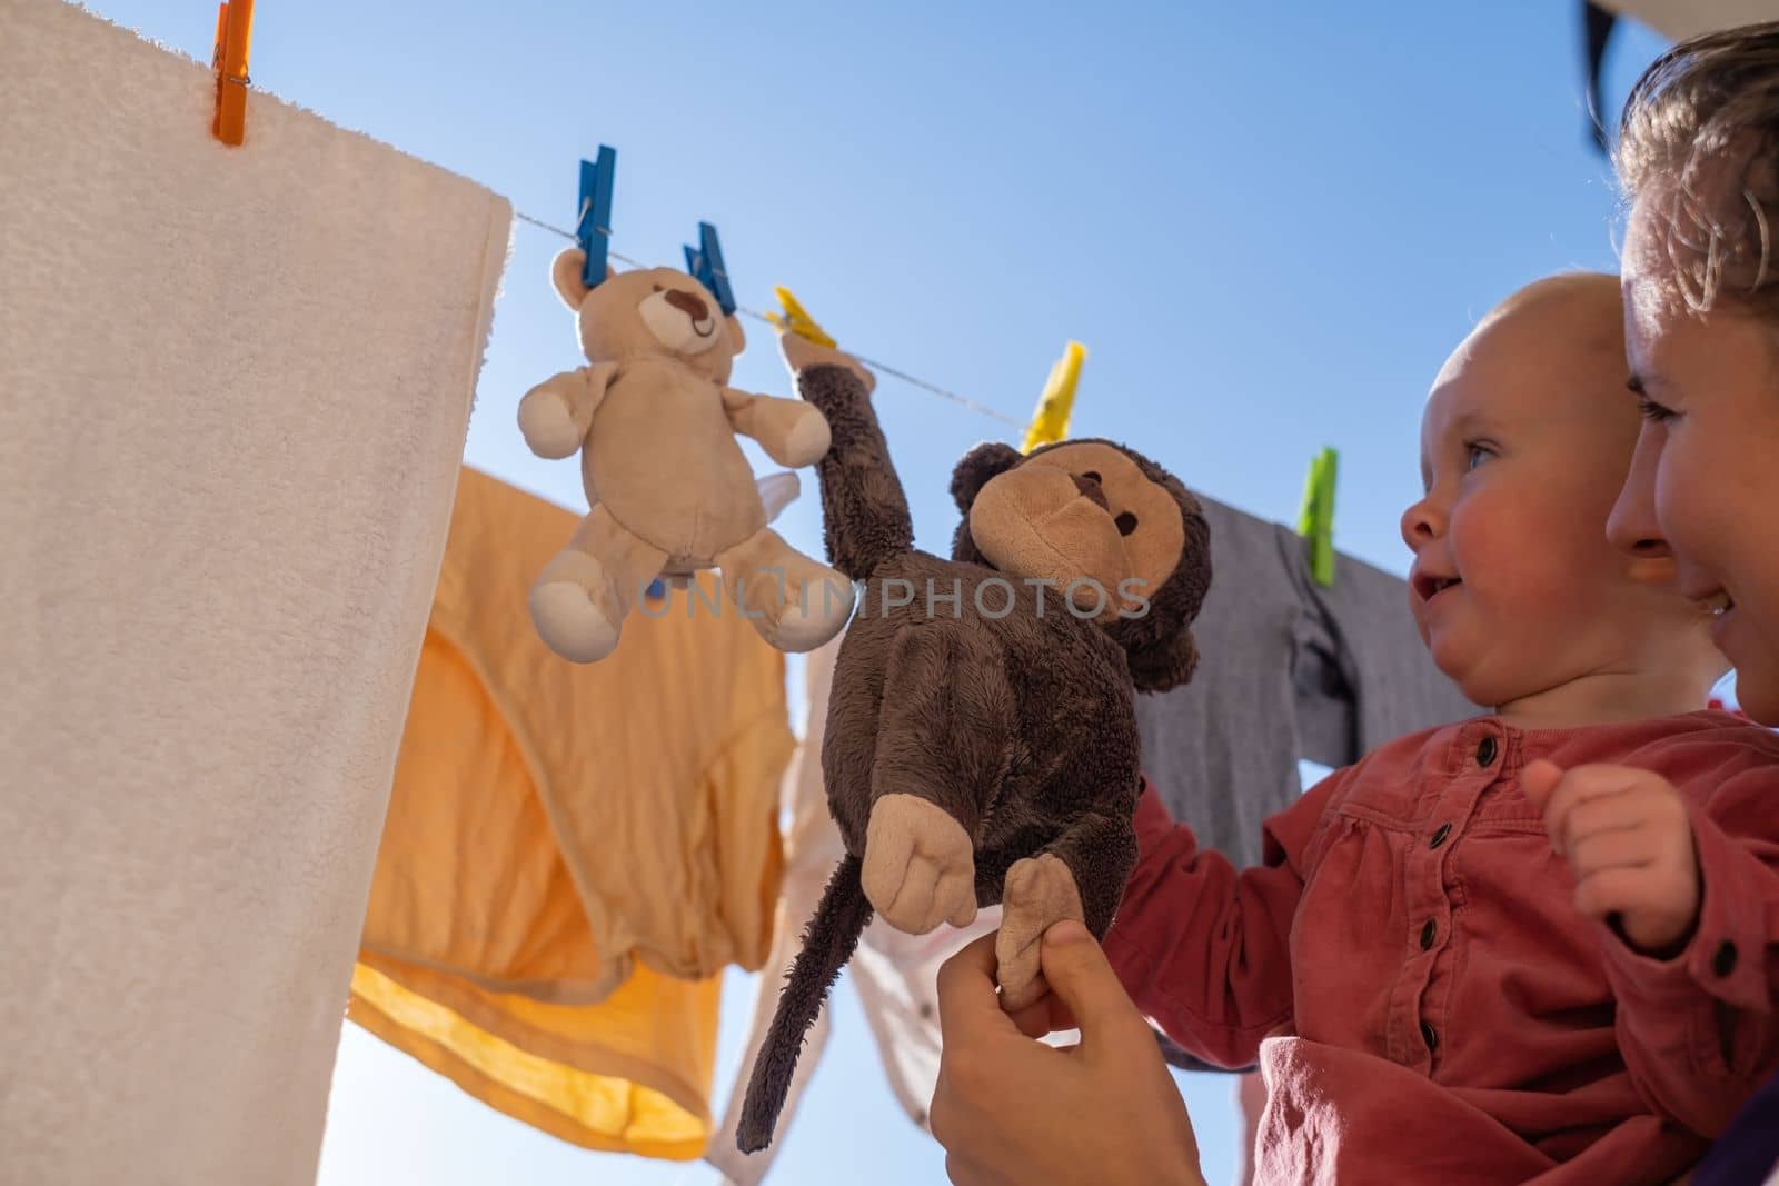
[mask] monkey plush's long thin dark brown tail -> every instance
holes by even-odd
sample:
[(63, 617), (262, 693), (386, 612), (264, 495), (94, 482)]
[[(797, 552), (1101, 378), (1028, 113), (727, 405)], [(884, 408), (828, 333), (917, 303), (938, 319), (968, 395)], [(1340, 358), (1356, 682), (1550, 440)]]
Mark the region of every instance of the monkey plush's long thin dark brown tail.
[(822, 903), (802, 934), (802, 951), (785, 978), (777, 1012), (747, 1081), (742, 1122), (735, 1129), (735, 1145), (742, 1152), (758, 1152), (772, 1143), (804, 1033), (815, 1024), (827, 990), (859, 946), (865, 925), (872, 921), (872, 903), (859, 882), (861, 868), (859, 859), (850, 855), (834, 868)]

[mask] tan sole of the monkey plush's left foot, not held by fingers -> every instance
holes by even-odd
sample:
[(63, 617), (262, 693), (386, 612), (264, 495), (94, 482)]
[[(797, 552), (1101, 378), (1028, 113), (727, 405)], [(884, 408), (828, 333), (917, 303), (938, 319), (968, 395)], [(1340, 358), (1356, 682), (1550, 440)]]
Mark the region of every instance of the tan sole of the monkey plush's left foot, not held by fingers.
[(977, 918), (977, 855), (964, 827), (918, 795), (884, 795), (865, 830), (865, 896), (886, 923), (925, 935)]

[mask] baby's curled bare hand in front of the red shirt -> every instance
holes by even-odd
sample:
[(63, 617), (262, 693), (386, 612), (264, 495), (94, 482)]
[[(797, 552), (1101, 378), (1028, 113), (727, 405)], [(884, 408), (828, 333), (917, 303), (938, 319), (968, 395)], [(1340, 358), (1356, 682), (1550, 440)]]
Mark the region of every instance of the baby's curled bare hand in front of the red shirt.
[(1574, 909), (1670, 955), (1699, 925), (1699, 855), (1674, 784), (1633, 766), (1526, 766), (1521, 786), (1574, 871)]

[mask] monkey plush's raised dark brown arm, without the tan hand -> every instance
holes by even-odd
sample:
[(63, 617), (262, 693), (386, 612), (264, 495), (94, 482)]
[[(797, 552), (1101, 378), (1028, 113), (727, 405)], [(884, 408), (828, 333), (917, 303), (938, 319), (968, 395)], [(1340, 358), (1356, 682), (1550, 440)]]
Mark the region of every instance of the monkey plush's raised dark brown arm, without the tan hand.
[(890, 557), (913, 551), (914, 521), (870, 391), (850, 366), (817, 363), (795, 372), (797, 393), (827, 420), (831, 443), (815, 464), (829, 562), (865, 580)]

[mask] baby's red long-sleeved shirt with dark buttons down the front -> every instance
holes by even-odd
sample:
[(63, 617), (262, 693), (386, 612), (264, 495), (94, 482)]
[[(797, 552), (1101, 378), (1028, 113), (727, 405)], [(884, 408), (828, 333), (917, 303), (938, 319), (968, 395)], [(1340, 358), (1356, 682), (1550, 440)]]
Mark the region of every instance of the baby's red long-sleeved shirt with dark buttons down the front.
[[(1573, 907), (1519, 789), (1533, 757), (1685, 797), (1704, 894), (1674, 958)], [(1153, 788), (1105, 939), (1137, 1005), (1206, 1062), (1260, 1062), (1260, 1182), (1667, 1182), (1779, 1062), (1779, 736), (1726, 713), (1402, 738), (1199, 850)]]

